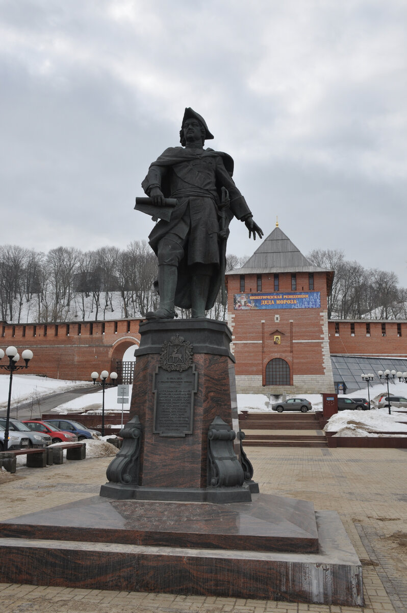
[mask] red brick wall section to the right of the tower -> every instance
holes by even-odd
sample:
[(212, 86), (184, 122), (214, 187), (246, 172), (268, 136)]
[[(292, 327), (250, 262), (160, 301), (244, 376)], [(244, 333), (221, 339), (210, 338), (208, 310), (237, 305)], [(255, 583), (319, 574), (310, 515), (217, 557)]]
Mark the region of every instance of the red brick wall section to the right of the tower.
[[(382, 323), (386, 326), (386, 336), (382, 335)], [(335, 324), (339, 326), (339, 336), (335, 335)], [(354, 324), (354, 336), (351, 332)], [(366, 335), (366, 324), (370, 324), (370, 336)], [(406, 321), (349, 321), (330, 320), (329, 350), (334, 354), (355, 354), (358, 356), (407, 356)], [(398, 331), (401, 336), (398, 336)]]

